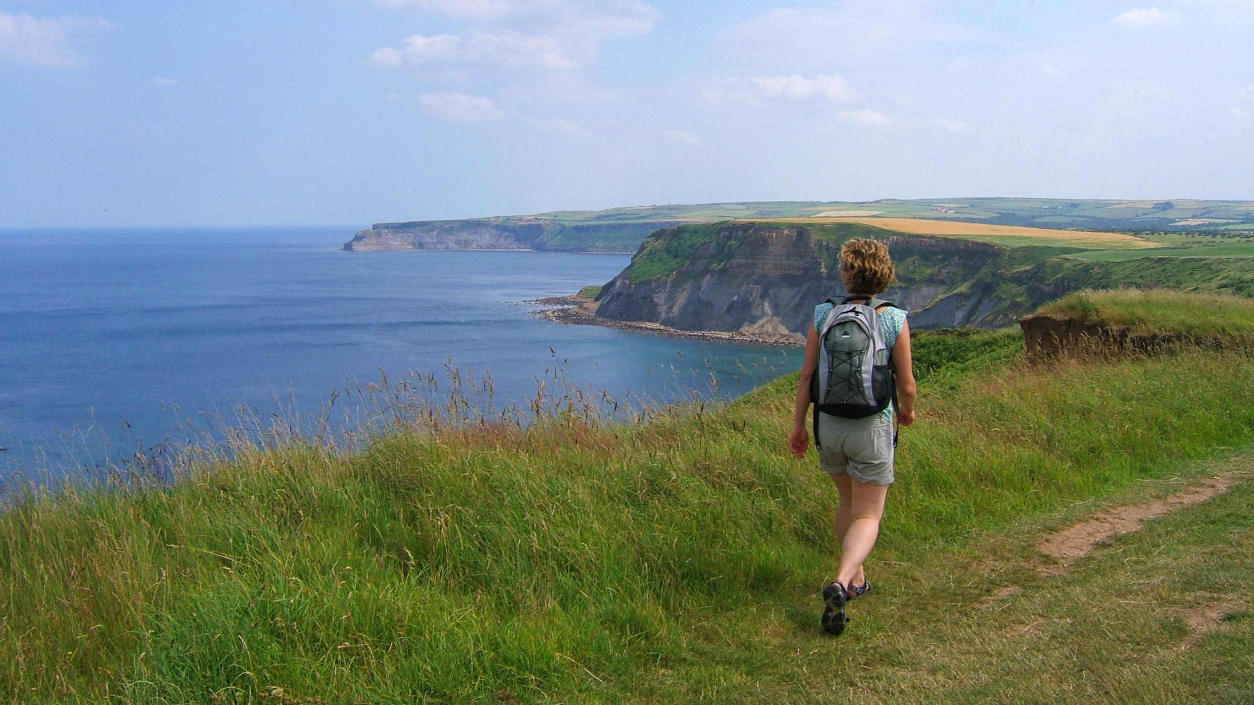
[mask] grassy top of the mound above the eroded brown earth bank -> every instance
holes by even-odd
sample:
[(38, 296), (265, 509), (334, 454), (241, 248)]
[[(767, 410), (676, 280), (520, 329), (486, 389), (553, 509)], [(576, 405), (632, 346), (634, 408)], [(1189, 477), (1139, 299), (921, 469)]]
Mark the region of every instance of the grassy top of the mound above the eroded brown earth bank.
[(1137, 334), (1254, 336), (1254, 300), (1226, 294), (1086, 290), (1047, 304), (1038, 312)]

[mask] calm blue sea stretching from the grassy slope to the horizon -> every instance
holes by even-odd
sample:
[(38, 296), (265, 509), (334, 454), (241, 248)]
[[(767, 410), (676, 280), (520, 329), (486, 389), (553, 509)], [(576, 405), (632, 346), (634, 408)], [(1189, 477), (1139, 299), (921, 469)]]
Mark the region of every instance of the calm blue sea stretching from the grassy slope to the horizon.
[(504, 406), (556, 366), (672, 401), (800, 364), (532, 315), (528, 300), (603, 284), (626, 255), (339, 250), (354, 230), (0, 231), (0, 484), (152, 454), (229, 409), (317, 409), (382, 373), (488, 371)]

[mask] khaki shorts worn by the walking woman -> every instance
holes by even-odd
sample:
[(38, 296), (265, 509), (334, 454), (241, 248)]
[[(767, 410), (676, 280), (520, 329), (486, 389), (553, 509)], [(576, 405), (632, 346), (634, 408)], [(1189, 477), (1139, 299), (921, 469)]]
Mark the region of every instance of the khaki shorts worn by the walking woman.
[(819, 414), (819, 467), (867, 484), (893, 484), (893, 421)]

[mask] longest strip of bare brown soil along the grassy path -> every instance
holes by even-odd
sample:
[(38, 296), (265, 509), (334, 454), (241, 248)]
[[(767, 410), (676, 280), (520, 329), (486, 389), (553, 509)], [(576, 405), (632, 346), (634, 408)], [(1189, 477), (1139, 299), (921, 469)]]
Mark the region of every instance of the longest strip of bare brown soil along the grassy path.
[(1149, 519), (1170, 514), (1190, 504), (1199, 504), (1211, 497), (1223, 494), (1244, 477), (1241, 474), (1228, 474), (1208, 478), (1166, 499), (1155, 499), (1152, 502), (1129, 504), (1099, 512), (1085, 522), (1046, 537), (1037, 544), (1037, 549), (1062, 562), (1087, 556), (1102, 541), (1121, 533), (1136, 531)]

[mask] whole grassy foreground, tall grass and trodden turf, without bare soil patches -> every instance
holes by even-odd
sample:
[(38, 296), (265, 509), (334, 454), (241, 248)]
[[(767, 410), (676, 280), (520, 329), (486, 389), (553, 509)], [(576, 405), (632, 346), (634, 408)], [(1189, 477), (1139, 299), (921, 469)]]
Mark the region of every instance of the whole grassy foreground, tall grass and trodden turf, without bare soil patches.
[[(287, 439), (168, 488), (0, 512), (14, 702), (1241, 700), (1248, 485), (1066, 581), (1042, 528), (1254, 442), (1254, 364), (1026, 363), (920, 335), (919, 421), (840, 640), (818, 626), (835, 493), (785, 450), (795, 375), (604, 423), (410, 409), (354, 454)], [(1205, 522), (1196, 528), (1194, 522)], [(1171, 581), (1180, 580), (1179, 591)], [(1018, 592), (982, 610), (999, 587)], [(1076, 591), (1078, 602), (1060, 600)], [(1164, 593), (1171, 591), (1171, 596)], [(1198, 639), (1189, 601), (1233, 617)]]

